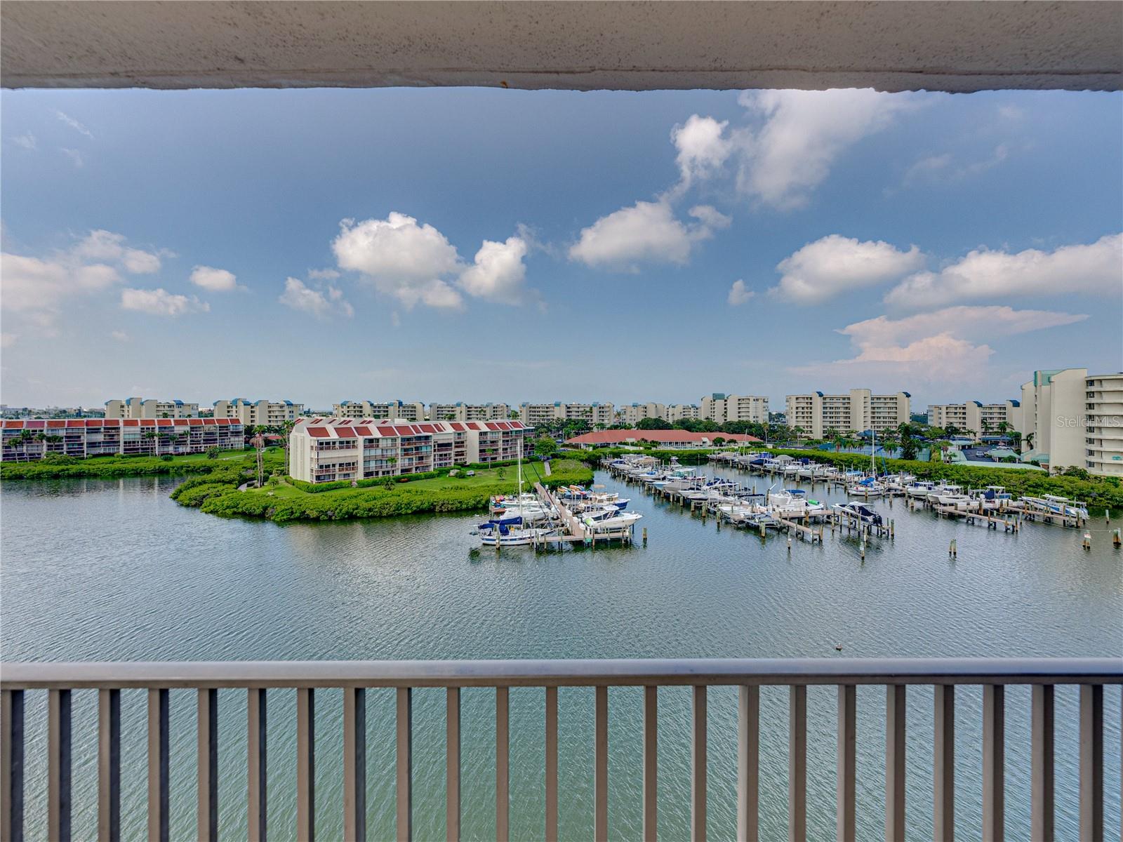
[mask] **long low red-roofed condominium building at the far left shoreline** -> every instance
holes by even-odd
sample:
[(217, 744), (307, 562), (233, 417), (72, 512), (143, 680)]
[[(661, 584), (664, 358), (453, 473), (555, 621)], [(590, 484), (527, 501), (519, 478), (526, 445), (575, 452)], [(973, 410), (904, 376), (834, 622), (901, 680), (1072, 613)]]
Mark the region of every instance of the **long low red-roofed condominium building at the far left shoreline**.
[(4, 421), (3, 461), (31, 461), (47, 454), (79, 459), (91, 456), (201, 454), (212, 447), (245, 447), (240, 421), (212, 418), (89, 419)]

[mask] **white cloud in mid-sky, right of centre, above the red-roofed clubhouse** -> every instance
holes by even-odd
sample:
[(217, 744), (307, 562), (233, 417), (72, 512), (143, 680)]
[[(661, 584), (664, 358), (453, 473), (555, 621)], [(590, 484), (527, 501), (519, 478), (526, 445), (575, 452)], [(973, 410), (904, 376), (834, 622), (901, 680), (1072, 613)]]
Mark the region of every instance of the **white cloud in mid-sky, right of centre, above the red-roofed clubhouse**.
[(729, 225), (729, 217), (704, 204), (690, 211), (697, 222), (678, 220), (666, 200), (636, 202), (601, 217), (569, 247), (569, 259), (588, 266), (634, 271), (641, 263), (685, 264), (700, 240), (714, 228)]

